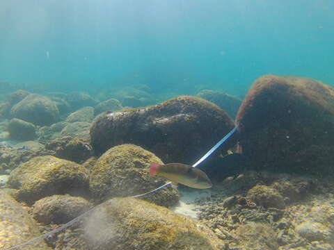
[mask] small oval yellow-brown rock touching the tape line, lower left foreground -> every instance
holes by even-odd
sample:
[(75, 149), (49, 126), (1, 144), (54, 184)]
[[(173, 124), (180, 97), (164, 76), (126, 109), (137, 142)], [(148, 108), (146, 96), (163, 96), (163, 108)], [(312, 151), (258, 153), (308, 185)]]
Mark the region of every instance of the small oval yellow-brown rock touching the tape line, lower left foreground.
[(54, 194), (33, 204), (33, 218), (44, 224), (63, 224), (86, 212), (92, 205), (82, 197)]

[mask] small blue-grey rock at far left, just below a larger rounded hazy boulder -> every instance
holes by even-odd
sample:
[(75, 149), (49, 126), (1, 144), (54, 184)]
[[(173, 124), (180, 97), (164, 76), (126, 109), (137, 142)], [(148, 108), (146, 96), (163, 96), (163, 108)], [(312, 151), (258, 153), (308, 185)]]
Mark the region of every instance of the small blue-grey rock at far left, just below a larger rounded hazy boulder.
[(10, 138), (15, 140), (24, 141), (37, 138), (35, 125), (22, 119), (11, 119), (7, 130), (10, 133)]

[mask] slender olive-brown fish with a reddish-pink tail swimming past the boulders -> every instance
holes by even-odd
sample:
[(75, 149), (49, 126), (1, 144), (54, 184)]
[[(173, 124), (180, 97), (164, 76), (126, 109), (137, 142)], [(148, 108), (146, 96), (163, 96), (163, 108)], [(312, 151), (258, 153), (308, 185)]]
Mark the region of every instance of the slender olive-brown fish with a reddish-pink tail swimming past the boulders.
[(212, 187), (212, 183), (205, 172), (182, 163), (168, 163), (165, 165), (152, 163), (150, 174), (167, 178), (169, 181), (181, 183), (191, 188), (205, 189)]

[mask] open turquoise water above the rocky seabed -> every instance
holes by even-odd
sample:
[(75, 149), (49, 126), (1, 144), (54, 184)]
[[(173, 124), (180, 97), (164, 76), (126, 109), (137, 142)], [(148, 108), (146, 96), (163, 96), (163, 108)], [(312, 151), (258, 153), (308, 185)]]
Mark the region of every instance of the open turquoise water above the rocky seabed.
[(333, 14), (332, 0), (1, 1), (0, 80), (236, 95), (269, 73), (333, 85)]

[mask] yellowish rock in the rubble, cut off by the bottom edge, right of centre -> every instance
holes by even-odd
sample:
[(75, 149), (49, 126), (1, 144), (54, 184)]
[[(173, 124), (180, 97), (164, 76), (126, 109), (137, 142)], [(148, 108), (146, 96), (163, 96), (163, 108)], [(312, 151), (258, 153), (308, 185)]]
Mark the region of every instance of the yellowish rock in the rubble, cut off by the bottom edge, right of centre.
[[(232, 235), (237, 238), (237, 246), (241, 249), (278, 249), (275, 231), (264, 223), (248, 222), (244, 225), (241, 224)], [(233, 247), (231, 249), (234, 249)]]

